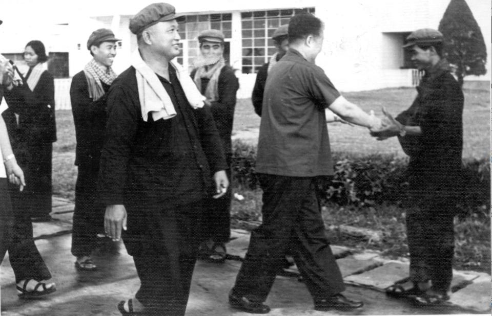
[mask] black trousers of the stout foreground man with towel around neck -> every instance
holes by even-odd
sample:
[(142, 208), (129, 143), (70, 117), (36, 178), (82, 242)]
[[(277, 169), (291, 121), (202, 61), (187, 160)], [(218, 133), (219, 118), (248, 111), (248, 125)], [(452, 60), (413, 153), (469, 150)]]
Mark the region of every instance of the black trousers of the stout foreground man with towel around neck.
[(200, 243), (202, 202), (128, 207), (123, 238), (140, 288), (135, 297), (153, 315), (184, 315)]

